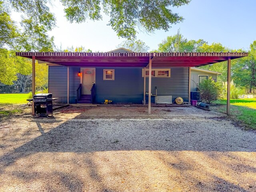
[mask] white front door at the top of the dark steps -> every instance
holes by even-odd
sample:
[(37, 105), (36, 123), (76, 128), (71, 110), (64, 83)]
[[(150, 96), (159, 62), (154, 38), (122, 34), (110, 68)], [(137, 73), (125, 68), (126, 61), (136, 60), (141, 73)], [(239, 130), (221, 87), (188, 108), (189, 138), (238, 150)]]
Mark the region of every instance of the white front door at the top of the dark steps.
[(91, 94), (92, 84), (95, 83), (95, 68), (81, 68), (82, 71), (82, 93)]

